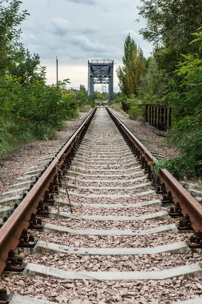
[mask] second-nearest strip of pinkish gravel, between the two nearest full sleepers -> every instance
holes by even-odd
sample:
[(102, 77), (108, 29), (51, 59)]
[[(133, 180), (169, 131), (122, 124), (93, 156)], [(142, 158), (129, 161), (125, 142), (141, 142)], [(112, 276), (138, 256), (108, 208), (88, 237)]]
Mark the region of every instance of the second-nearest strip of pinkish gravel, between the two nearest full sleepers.
[(190, 252), (189, 254), (160, 253), (154, 255), (116, 255), (99, 256), (80, 254), (54, 254), (43, 253), (29, 255), (21, 253), (25, 263), (35, 263), (46, 267), (62, 269), (65, 271), (161, 271), (181, 267), (187, 264), (197, 263), (202, 260), (201, 254)]

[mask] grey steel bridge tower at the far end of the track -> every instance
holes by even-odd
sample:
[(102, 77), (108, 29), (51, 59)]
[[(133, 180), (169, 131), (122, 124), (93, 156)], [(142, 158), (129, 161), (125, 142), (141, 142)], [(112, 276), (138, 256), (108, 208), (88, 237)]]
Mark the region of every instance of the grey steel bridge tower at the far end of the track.
[(113, 101), (114, 60), (88, 60), (88, 95), (94, 94), (94, 84), (108, 85), (108, 101)]

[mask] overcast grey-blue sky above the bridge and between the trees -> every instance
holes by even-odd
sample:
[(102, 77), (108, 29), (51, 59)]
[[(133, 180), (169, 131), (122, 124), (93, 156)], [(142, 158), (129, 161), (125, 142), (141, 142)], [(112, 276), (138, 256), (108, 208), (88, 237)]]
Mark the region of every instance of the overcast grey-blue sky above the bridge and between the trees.
[[(22, 0), (21, 9), (30, 16), (23, 21), (22, 42), (31, 54), (38, 53), (47, 67), (47, 83), (70, 78), (69, 87), (87, 88), (87, 61), (114, 59), (114, 89), (119, 91), (116, 67), (121, 64), (127, 34), (150, 55), (152, 46), (138, 34), (145, 20), (138, 18), (140, 0)], [(101, 90), (96, 85), (95, 90)]]

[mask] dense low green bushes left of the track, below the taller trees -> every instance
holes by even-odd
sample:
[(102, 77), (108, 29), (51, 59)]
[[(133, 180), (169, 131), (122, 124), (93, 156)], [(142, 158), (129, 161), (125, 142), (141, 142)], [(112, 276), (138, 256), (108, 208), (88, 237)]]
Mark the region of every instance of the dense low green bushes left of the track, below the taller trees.
[(0, 91), (2, 121), (16, 124), (29, 121), (36, 125), (49, 123), (60, 126), (68, 118), (68, 108), (61, 101), (60, 86), (63, 85), (46, 86), (42, 80), (23, 85), (21, 78), (6, 78), (4, 88)]

